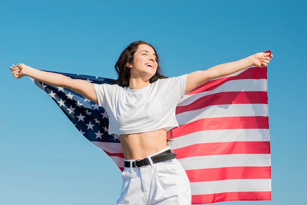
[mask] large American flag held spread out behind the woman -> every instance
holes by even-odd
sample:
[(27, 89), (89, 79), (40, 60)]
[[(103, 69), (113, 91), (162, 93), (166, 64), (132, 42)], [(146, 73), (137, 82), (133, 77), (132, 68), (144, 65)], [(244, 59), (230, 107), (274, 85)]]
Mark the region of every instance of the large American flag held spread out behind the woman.
[[(192, 204), (271, 200), (267, 68), (250, 67), (210, 80), (182, 98), (170, 143), (186, 170)], [(60, 73), (92, 83), (113, 79)], [(74, 126), (123, 170), (119, 136), (108, 134), (103, 107), (61, 87), (32, 79)]]

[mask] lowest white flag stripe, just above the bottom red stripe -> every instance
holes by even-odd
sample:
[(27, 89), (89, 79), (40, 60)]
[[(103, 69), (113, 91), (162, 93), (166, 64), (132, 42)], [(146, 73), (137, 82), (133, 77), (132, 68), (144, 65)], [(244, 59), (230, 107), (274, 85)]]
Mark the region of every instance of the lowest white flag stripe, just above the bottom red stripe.
[(271, 191), (271, 179), (228, 179), (191, 183), (192, 195)]

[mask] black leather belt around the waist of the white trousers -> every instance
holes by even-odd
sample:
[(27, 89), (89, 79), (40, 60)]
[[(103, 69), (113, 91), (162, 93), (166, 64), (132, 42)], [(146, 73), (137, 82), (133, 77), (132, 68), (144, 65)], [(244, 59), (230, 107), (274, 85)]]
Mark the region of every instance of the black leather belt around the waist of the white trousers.
[[(157, 162), (166, 161), (169, 159), (174, 159), (176, 158), (176, 156), (177, 155), (173, 153), (172, 150), (167, 150), (163, 153), (151, 156), (151, 159), (153, 163), (157, 163)], [(132, 161), (132, 167), (141, 167), (141, 166), (145, 166), (149, 164), (150, 164), (150, 161), (147, 157), (144, 159)], [(130, 167), (130, 161), (124, 161), (124, 167)]]

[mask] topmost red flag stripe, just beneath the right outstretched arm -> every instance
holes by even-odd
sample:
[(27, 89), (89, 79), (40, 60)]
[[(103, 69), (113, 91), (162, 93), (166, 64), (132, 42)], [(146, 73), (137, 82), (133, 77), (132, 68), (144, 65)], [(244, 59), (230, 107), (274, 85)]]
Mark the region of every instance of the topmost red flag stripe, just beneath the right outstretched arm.
[(220, 79), (216, 80), (210, 80), (205, 82), (204, 84), (198, 86), (191, 92), (189, 92), (188, 95), (192, 95), (195, 93), (200, 93), (203, 91), (209, 91), (209, 90), (214, 90), (215, 88), (219, 87), (220, 85), (224, 84), (227, 81), (230, 80), (240, 80), (240, 79), (267, 79), (266, 76), (266, 67), (265, 68), (250, 68), (243, 73), (239, 74), (238, 76), (233, 76), (233, 77), (223, 77)]

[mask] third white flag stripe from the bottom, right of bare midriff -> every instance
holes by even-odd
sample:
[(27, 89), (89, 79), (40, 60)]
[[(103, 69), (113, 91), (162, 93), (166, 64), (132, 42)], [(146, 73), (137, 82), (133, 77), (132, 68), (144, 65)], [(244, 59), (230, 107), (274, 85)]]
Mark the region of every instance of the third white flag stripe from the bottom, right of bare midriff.
[(268, 129), (220, 129), (193, 132), (174, 138), (172, 149), (179, 149), (194, 144), (213, 142), (261, 142), (269, 141)]

